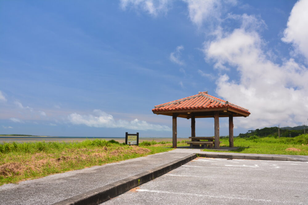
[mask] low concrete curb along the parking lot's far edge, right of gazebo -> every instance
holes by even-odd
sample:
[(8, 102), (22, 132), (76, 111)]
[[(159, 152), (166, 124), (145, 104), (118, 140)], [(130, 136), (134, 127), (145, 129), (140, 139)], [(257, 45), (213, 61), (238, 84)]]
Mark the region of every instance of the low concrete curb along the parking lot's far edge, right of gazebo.
[(232, 154), (199, 154), (201, 157), (221, 158), (221, 159), (238, 159), (238, 160), (274, 160), (274, 161), (299, 161), (290, 157), (282, 156), (251, 156), (251, 155), (232, 155)]

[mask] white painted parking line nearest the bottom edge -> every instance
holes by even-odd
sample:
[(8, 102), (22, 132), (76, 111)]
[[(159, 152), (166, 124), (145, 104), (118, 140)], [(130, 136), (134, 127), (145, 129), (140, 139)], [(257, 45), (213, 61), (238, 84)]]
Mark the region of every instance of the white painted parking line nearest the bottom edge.
[(136, 191), (146, 191), (146, 192), (155, 192), (155, 193), (162, 193), (162, 194), (172, 194), (172, 195), (191, 195), (191, 196), (201, 196), (201, 197), (208, 197), (208, 198), (225, 198), (225, 199), (241, 199), (247, 201), (262, 201), (262, 202), (272, 202), (269, 199), (254, 199), (254, 198), (245, 198), (245, 197), (237, 197), (237, 196), (217, 196), (217, 195), (206, 195), (206, 194), (191, 194), (191, 193), (181, 193), (181, 192), (171, 192), (171, 191), (157, 191), (157, 190), (147, 190), (147, 189), (137, 189)]

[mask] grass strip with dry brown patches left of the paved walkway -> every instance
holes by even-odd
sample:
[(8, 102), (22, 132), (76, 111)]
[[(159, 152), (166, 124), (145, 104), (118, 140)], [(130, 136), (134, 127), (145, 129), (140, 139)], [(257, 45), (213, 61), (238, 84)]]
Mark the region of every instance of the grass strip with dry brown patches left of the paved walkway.
[(98, 139), (73, 143), (4, 143), (0, 144), (0, 185), (169, 150), (172, 148), (129, 146)]

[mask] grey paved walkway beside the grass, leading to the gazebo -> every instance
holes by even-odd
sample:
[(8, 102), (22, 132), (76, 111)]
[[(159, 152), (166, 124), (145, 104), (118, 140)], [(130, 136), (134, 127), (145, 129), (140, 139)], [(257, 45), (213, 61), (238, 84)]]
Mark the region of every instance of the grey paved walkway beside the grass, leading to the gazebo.
[[(20, 182), (18, 184), (5, 184), (0, 187), (0, 204), (52, 204), (172, 162), (192, 153), (213, 152), (202, 152), (196, 148), (175, 149), (170, 152), (162, 152), (118, 163), (69, 171), (41, 179)], [(226, 152), (216, 153), (225, 154)], [(241, 155), (241, 153), (234, 154)], [(308, 156), (283, 156), (308, 161)]]

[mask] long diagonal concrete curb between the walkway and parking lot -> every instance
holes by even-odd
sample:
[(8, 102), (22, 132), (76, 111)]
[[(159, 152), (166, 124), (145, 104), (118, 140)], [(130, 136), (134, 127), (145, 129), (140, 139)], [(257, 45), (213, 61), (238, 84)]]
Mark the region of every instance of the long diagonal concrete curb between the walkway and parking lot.
[(83, 194), (73, 196), (69, 199), (54, 203), (54, 205), (81, 205), (81, 204), (99, 204), (103, 203), (111, 198), (114, 198), (124, 192), (137, 187), (143, 183), (147, 183), (152, 179), (155, 179), (165, 173), (182, 166), (195, 159), (197, 154), (191, 154), (186, 157), (183, 157), (179, 160), (161, 165), (159, 167), (150, 169), (148, 171), (141, 172), (134, 176), (121, 179), (114, 183), (107, 184), (106, 186), (99, 187), (97, 189), (87, 191)]

